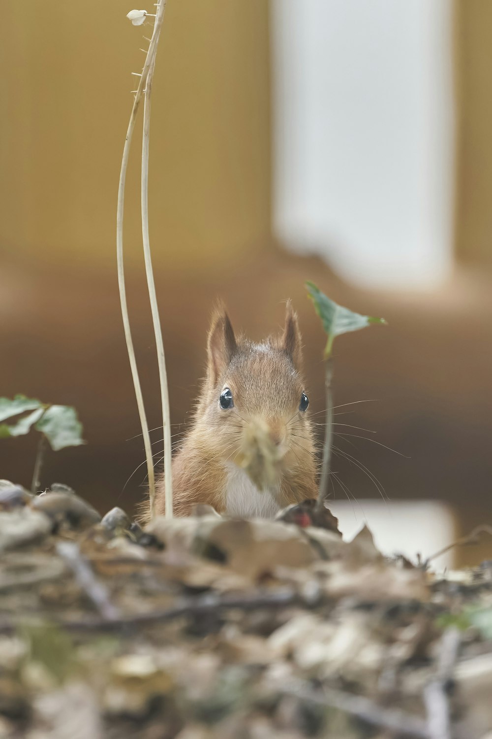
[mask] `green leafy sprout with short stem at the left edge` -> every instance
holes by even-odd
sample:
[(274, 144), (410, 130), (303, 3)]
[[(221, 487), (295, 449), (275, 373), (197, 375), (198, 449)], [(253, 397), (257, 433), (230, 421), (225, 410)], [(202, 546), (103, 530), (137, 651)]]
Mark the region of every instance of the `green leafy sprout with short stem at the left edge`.
[[(21, 418), (16, 418), (19, 415)], [(10, 423), (1, 423), (5, 420), (10, 420)], [(49, 443), (54, 452), (58, 452), (66, 446), (80, 446), (85, 442), (82, 438), (82, 423), (72, 406), (41, 403), (35, 398), (26, 398), (25, 395), (15, 395), (13, 400), (0, 398), (0, 439), (23, 436), (32, 428), (41, 433), (32, 474), (31, 490), (34, 493), (40, 486), (46, 443)]]

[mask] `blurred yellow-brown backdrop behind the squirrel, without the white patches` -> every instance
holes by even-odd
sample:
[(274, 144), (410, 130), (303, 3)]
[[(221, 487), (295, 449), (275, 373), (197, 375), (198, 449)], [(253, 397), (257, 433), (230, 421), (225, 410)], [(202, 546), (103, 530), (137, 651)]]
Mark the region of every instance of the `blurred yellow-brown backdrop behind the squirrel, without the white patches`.
[[(2, 9), (0, 32), (0, 394), (77, 406), (89, 443), (49, 457), (43, 481), (70, 483), (101, 509), (116, 501), (131, 509), (144, 478), (141, 467), (122, 491), (143, 460), (141, 440), (127, 441), (139, 423), (114, 256), (130, 72), (143, 59), (128, 10), (116, 0), (103, 9), (94, 0), (13, 3)], [(356, 413), (339, 420), (377, 429), (378, 440), (411, 458), (357, 439), (351, 451), (390, 498), (446, 500), (465, 531), (492, 517), (492, 6), (459, 0), (454, 17), (457, 269), (449, 285), (420, 295), (355, 290), (274, 243), (266, 0), (168, 0), (153, 92), (150, 234), (173, 423), (196, 394), (218, 296), (253, 338), (276, 330), (281, 301), (294, 299), (312, 406), (323, 408), (322, 336), (302, 289), (315, 278), (334, 299), (390, 324), (339, 340), (336, 401), (378, 398), (342, 409)], [(138, 166), (136, 143), (125, 255), (152, 427), (159, 389)], [(30, 437), (1, 442), (0, 477), (29, 484), (34, 449)], [(360, 472), (339, 471), (356, 496), (375, 494)]]

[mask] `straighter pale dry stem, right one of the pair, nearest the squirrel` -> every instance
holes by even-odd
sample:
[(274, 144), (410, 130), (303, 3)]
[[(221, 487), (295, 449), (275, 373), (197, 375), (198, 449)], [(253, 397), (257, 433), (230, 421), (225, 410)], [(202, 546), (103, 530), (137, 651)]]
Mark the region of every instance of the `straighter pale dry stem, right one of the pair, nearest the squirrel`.
[[(144, 123), (142, 134), (142, 242), (144, 247), (145, 273), (147, 275), (150, 310), (152, 312), (153, 333), (156, 336), (157, 362), (159, 365), (159, 383), (161, 385), (162, 426), (164, 431), (164, 490), (166, 501), (166, 518), (173, 518), (173, 477), (171, 474), (171, 425), (169, 412), (169, 391), (167, 389), (166, 360), (164, 357), (164, 342), (162, 341), (159, 308), (157, 306), (156, 285), (153, 279), (152, 257), (150, 256), (150, 237), (148, 226), (148, 159), (150, 140), (150, 93), (152, 92), (153, 70), (155, 58), (145, 85)], [(150, 497), (150, 517), (154, 517), (155, 496)]]

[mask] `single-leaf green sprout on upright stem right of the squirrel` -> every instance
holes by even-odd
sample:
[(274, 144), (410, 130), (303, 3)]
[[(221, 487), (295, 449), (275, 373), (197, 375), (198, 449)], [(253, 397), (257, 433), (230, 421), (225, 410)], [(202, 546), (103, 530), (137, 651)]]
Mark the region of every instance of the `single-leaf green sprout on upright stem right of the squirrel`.
[(319, 290), (319, 287), (313, 282), (307, 281), (305, 286), (308, 288), (308, 298), (313, 301), (314, 310), (318, 314), (323, 324), (323, 329), (327, 335), (323, 358), (325, 359), (325, 396), (326, 396), (326, 424), (325, 424), (325, 441), (323, 443), (323, 461), (321, 468), (321, 477), (319, 478), (319, 492), (317, 508), (322, 508), (325, 499), (328, 497), (328, 485), (330, 483), (330, 463), (331, 463), (331, 447), (333, 441), (333, 394), (331, 391), (331, 381), (333, 379), (333, 341), (336, 336), (349, 331), (358, 331), (361, 328), (370, 326), (370, 324), (386, 324), (384, 319), (375, 318), (375, 316), (361, 316), (360, 313), (353, 313), (352, 310), (338, 305), (330, 300), (325, 293)]

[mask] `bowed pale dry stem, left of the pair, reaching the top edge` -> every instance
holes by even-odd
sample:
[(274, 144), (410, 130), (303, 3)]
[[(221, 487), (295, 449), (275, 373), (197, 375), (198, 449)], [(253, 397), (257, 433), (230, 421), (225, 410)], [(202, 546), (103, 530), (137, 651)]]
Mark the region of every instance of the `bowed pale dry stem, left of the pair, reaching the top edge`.
[(145, 64), (142, 69), (142, 75), (139, 78), (139, 84), (136, 89), (134, 104), (131, 109), (130, 120), (128, 122), (128, 129), (126, 132), (125, 146), (123, 147), (121, 169), (119, 171), (119, 185), (118, 185), (118, 205), (117, 205), (117, 270), (118, 270), (118, 286), (119, 286), (119, 302), (121, 304), (121, 313), (123, 319), (123, 327), (125, 330), (125, 340), (128, 349), (128, 359), (130, 360), (131, 376), (134, 381), (134, 389), (136, 396), (136, 404), (139, 409), (140, 425), (142, 426), (142, 437), (145, 446), (145, 458), (147, 460), (147, 472), (148, 472), (148, 485), (151, 505), (156, 494), (156, 483), (153, 471), (153, 459), (152, 459), (152, 446), (150, 445), (150, 435), (148, 430), (147, 417), (145, 415), (145, 406), (142, 396), (142, 387), (140, 386), (139, 372), (136, 367), (136, 358), (134, 350), (134, 342), (131, 338), (130, 319), (128, 316), (128, 304), (126, 300), (126, 289), (125, 289), (125, 269), (123, 265), (123, 212), (125, 206), (125, 183), (126, 183), (126, 171), (128, 168), (128, 157), (130, 154), (131, 139), (134, 133), (136, 114), (139, 109), (139, 103), (142, 100), (142, 95), (147, 84), (148, 73), (150, 65), (153, 63), (153, 59), (156, 55), (157, 43), (159, 41), (159, 33), (162, 27), (162, 21), (164, 18), (165, 0), (159, 2), (159, 6), (156, 12), (156, 20), (153, 26), (152, 38), (150, 39), (150, 45), (145, 57)]

